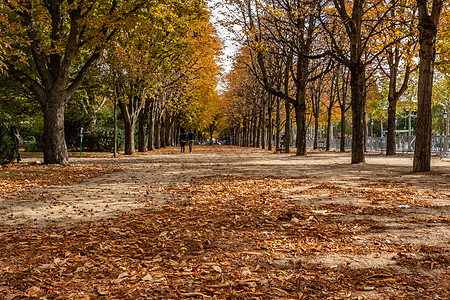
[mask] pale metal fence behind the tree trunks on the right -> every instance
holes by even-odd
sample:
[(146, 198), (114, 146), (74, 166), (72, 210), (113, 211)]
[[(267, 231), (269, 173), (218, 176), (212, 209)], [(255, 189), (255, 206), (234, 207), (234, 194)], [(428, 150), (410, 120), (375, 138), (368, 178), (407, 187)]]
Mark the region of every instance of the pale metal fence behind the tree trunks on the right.
[[(386, 153), (386, 137), (367, 137), (366, 149), (368, 152), (373, 153)], [(416, 137), (415, 136), (398, 136), (395, 138), (396, 151), (397, 153), (413, 153), (415, 146)], [(445, 142), (447, 142), (447, 147), (445, 147)], [(318, 147), (325, 148), (325, 139), (318, 140)], [(313, 148), (314, 140), (307, 139), (306, 146)], [(330, 150), (339, 150), (341, 148), (341, 139), (331, 139), (330, 140)], [(345, 139), (345, 150), (350, 151), (352, 148), (352, 139)], [(445, 137), (444, 135), (436, 135), (432, 137), (431, 140), (431, 152), (435, 155), (448, 156), (450, 155), (450, 136)]]

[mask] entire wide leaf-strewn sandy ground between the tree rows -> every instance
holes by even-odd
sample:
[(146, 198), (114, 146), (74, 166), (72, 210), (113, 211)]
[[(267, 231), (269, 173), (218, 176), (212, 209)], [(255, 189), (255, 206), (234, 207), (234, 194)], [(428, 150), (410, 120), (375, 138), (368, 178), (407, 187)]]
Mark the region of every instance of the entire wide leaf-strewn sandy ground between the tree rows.
[(0, 297), (446, 298), (450, 161), (350, 161), (217, 146), (0, 169)]

